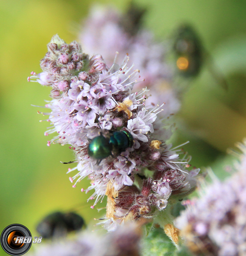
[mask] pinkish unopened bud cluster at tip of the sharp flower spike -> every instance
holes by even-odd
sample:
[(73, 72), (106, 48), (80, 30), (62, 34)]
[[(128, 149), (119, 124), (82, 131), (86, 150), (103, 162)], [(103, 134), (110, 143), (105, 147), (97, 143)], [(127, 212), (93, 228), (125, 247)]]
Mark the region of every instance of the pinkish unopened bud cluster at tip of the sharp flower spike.
[[(55, 35), (48, 44), (48, 52), (40, 61), (40, 67), (43, 72), (30, 79), (37, 78), (40, 84), (51, 86), (51, 97), (56, 99), (67, 93), (72, 81), (96, 81), (97, 73), (105, 68), (105, 63), (101, 55), (89, 58), (89, 55), (82, 53), (76, 41), (66, 44)], [(87, 72), (84, 72), (85, 69)]]

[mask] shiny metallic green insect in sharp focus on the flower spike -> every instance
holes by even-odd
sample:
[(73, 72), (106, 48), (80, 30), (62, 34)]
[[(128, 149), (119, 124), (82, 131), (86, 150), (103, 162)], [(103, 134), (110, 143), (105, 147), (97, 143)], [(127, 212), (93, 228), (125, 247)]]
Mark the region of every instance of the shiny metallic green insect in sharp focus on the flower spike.
[(97, 163), (109, 156), (117, 157), (133, 145), (133, 137), (129, 131), (102, 130), (100, 135), (89, 141), (88, 154), (97, 159)]

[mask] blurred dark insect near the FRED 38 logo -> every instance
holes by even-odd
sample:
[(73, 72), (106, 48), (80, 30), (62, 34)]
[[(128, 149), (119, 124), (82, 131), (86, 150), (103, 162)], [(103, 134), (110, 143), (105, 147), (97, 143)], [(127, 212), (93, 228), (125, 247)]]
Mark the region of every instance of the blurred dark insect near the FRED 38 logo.
[(52, 212), (37, 225), (37, 232), (43, 238), (54, 239), (78, 231), (85, 226), (84, 219), (75, 212)]

